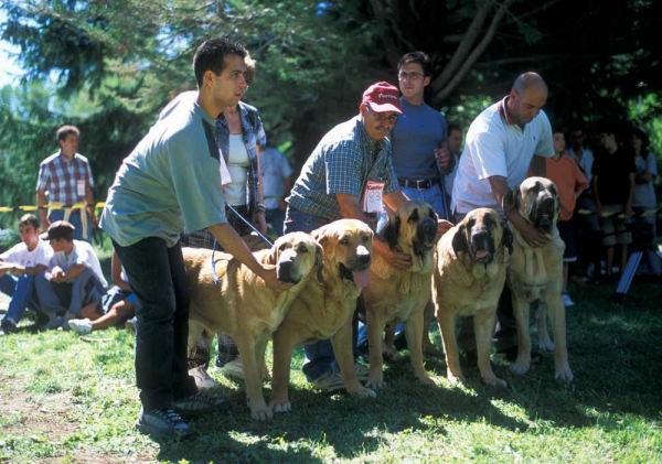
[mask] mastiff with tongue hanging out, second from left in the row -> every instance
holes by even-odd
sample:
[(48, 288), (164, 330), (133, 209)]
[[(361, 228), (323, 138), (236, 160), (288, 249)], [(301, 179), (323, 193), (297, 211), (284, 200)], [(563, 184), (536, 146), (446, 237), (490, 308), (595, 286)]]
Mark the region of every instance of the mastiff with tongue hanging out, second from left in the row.
[(340, 219), (311, 233), (324, 249), (322, 279), (309, 280), (274, 333), (274, 374), (269, 407), (291, 410), (288, 397), (290, 362), (297, 345), (331, 339), (348, 392), (375, 393), (356, 380), (352, 350), (352, 317), (367, 284), (373, 233), (361, 220)]

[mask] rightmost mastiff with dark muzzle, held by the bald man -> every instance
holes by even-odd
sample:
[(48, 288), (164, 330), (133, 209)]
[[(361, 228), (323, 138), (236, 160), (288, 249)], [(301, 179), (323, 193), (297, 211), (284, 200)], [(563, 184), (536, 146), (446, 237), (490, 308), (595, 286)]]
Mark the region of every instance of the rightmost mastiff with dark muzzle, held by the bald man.
[[(517, 359), (511, 369), (524, 374), (531, 365), (531, 336), (528, 334), (530, 304), (540, 300), (545, 305), (552, 321), (554, 335), (555, 377), (572, 380), (566, 346), (565, 306), (560, 296), (563, 285), (563, 252), (565, 244), (558, 236), (556, 222), (560, 214), (558, 191), (554, 182), (545, 177), (528, 177), (503, 198), (503, 208), (517, 208), (520, 216), (543, 230), (549, 242), (544, 247), (532, 248), (515, 227), (510, 225), (514, 236), (514, 251), (508, 268), (508, 284), (513, 294), (513, 311), (517, 321), (520, 348)], [(544, 312), (542, 312), (543, 321)], [(541, 334), (544, 338), (545, 334)], [(544, 343), (548, 341), (541, 339)]]

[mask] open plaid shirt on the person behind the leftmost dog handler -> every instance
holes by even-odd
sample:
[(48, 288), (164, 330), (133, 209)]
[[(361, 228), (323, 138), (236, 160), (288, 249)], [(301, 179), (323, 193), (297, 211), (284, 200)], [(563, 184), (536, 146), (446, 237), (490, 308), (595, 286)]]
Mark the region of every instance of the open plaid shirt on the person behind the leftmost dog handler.
[[(258, 201), (257, 187), (259, 177), (257, 175), (257, 145), (267, 145), (267, 136), (261, 125), (261, 119), (257, 114), (257, 109), (250, 105), (239, 101), (239, 115), (242, 119), (242, 134), (244, 136), (244, 144), (250, 158), (250, 169), (248, 170), (248, 215), (247, 218), (255, 220), (255, 205)], [(229, 154), (229, 127), (223, 112), (216, 119), (216, 143), (223, 153), (225, 163)]]

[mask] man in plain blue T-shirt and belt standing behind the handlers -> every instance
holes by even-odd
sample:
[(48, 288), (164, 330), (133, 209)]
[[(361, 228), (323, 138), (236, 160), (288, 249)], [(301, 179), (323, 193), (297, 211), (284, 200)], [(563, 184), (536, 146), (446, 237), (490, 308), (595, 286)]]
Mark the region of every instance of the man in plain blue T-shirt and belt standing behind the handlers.
[(430, 58), (423, 52), (407, 53), (397, 64), (403, 115), (391, 130), (393, 169), (407, 198), (429, 203), (439, 218), (448, 219), (439, 166), (450, 174), (453, 160), (446, 148), (446, 118), (423, 99), (430, 72)]

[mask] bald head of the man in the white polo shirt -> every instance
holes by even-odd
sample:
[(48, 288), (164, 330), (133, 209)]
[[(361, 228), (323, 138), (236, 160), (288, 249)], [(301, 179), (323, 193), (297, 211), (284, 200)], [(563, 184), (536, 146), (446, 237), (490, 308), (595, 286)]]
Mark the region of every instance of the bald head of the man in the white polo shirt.
[(547, 102), (547, 84), (536, 73), (524, 73), (515, 79), (508, 99), (508, 112), (524, 127), (531, 122)]

